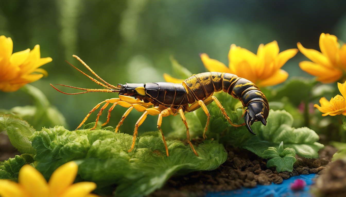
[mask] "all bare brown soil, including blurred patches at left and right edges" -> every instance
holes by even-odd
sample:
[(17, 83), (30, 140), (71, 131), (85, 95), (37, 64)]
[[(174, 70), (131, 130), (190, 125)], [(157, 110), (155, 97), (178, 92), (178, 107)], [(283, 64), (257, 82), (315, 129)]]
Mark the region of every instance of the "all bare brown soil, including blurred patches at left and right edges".
[[(266, 167), (266, 159), (258, 158), (252, 152), (227, 146), (228, 158), (220, 167), (212, 171), (198, 171), (185, 176), (173, 176), (149, 197), (193, 197), (204, 196), (209, 191), (229, 191), (240, 187), (280, 184), (283, 179), (301, 174), (317, 173), (330, 163), (336, 152), (332, 146), (319, 151), (319, 158), (297, 158), (292, 172), (277, 173), (275, 168)], [(0, 161), (13, 158), (20, 153), (11, 145), (6, 134), (0, 133)], [(330, 163), (323, 176), (317, 179), (315, 190), (329, 196), (343, 196), (346, 191), (346, 162)]]

